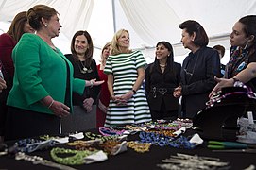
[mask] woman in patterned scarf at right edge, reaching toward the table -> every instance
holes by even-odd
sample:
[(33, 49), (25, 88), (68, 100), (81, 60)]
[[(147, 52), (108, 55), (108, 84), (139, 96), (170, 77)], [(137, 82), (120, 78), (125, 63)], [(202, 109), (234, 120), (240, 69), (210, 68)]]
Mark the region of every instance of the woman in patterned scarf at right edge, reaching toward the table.
[(236, 80), (256, 92), (256, 15), (247, 15), (237, 21), (230, 34), (230, 61), (226, 66), (225, 78), (217, 78), (218, 84), (210, 96), (221, 88), (233, 86)]

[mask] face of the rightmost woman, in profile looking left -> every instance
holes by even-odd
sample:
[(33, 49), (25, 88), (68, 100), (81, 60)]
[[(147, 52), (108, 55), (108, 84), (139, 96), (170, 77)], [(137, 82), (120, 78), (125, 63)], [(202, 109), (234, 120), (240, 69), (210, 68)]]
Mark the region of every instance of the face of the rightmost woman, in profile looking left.
[(248, 38), (243, 30), (244, 25), (240, 22), (236, 22), (232, 28), (232, 33), (230, 34), (230, 44), (231, 46), (241, 46), (245, 47)]

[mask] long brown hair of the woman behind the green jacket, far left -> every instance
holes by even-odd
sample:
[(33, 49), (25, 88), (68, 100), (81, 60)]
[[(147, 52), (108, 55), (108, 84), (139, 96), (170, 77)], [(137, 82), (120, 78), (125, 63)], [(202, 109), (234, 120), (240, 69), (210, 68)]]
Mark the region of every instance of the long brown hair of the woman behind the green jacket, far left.
[(18, 13), (12, 20), (7, 33), (16, 42), (19, 42), (22, 35), (25, 33), (24, 26), (26, 22), (27, 22), (26, 11)]

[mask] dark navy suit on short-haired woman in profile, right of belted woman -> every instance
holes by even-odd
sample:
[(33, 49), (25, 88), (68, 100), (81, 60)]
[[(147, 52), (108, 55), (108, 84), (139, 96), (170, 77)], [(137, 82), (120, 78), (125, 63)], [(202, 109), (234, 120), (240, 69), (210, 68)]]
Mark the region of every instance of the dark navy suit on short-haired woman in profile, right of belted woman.
[(206, 108), (209, 93), (216, 85), (214, 76), (220, 75), (220, 59), (213, 48), (201, 47), (184, 59), (180, 73), (181, 110), (187, 118), (193, 118), (199, 110)]

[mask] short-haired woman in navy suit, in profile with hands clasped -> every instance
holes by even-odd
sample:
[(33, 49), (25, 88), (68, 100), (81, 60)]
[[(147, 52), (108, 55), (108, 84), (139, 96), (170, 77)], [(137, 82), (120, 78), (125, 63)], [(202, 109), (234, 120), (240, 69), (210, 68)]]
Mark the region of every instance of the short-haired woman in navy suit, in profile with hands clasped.
[(182, 116), (193, 118), (199, 110), (206, 108), (208, 95), (216, 84), (214, 76), (220, 77), (220, 59), (216, 50), (207, 47), (209, 39), (203, 26), (188, 20), (179, 28), (182, 29), (181, 42), (191, 52), (183, 61), (181, 85), (174, 96), (182, 95)]

